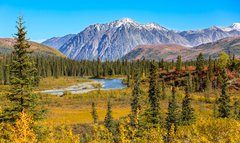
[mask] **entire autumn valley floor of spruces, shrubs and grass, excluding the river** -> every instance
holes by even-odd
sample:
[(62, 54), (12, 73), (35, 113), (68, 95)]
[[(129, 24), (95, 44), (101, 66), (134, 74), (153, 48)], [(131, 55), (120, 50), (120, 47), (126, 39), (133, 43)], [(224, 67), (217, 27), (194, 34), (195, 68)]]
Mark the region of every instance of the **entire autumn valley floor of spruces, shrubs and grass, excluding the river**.
[[(192, 61), (75, 61), (31, 56), (19, 19), (17, 43), (0, 59), (0, 142), (238, 143), (240, 59), (199, 53)], [(55, 96), (61, 82), (124, 78), (118, 90)], [(48, 85), (47, 85), (48, 84)]]

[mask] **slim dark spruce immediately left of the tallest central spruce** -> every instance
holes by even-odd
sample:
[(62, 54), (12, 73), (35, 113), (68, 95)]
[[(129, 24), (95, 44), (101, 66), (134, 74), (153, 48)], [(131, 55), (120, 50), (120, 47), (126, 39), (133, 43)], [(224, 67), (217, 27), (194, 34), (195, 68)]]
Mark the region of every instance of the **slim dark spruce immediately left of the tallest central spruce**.
[(131, 125), (135, 128), (138, 124), (138, 117), (140, 112), (140, 96), (141, 96), (141, 89), (140, 89), (140, 77), (139, 75), (136, 76), (134, 88), (132, 91), (132, 113), (131, 113)]

